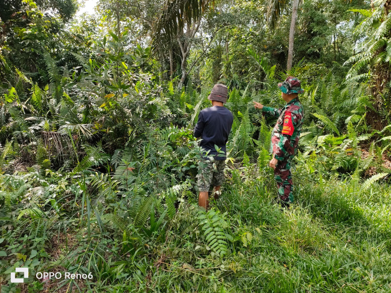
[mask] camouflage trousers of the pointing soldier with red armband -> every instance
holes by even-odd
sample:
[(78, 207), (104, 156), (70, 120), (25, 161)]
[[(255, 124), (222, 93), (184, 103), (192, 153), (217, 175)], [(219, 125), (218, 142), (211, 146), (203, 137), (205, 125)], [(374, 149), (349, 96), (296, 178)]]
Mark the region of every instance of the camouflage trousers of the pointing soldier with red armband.
[(277, 182), (278, 195), (283, 202), (293, 202), (293, 184), (290, 160), (278, 161), (274, 169), (274, 180)]

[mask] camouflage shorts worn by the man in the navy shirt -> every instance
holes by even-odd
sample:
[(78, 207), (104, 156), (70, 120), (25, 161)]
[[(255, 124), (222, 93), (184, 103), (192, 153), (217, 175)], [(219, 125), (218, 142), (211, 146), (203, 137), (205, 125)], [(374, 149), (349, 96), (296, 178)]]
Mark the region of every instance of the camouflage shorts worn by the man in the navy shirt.
[(209, 188), (221, 186), (224, 181), (225, 160), (207, 161), (198, 164), (198, 191), (207, 192)]

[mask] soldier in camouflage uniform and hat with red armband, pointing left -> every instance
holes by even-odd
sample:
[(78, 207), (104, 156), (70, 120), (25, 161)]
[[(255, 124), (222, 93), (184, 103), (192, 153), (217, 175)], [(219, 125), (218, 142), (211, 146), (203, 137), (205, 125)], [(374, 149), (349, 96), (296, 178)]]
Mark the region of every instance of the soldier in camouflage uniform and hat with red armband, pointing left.
[(270, 152), (273, 158), (269, 165), (274, 169), (280, 202), (282, 206), (289, 207), (289, 203), (293, 202), (291, 161), (297, 153), (304, 121), (303, 105), (298, 94), (304, 90), (300, 81), (292, 76), (278, 86), (282, 99), (287, 102), (282, 109), (266, 107), (257, 102), (254, 102), (254, 106), (262, 109), (262, 114), (278, 117), (272, 131)]

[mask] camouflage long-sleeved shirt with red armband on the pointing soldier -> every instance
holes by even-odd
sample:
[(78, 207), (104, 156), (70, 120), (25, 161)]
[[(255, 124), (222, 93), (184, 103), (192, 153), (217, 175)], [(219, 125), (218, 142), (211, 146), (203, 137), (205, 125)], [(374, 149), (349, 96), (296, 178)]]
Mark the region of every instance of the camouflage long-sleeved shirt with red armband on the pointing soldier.
[(263, 107), (262, 114), (278, 117), (272, 131), (270, 152), (277, 160), (291, 160), (297, 153), (300, 132), (304, 121), (303, 105), (299, 98), (287, 103), (282, 109)]

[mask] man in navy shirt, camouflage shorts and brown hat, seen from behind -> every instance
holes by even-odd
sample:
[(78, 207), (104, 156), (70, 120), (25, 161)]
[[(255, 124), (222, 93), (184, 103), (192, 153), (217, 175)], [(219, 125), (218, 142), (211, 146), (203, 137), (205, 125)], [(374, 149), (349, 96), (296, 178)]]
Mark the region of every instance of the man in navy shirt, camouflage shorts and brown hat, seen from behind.
[[(226, 159), (225, 146), (231, 131), (234, 116), (224, 107), (227, 101), (228, 88), (224, 84), (215, 84), (208, 99), (212, 101), (212, 107), (203, 109), (198, 114), (198, 122), (194, 128), (194, 136), (201, 137), (200, 146), (213, 156), (212, 160), (206, 158), (199, 164), (198, 170), (198, 205), (208, 208), (209, 188), (215, 187), (215, 198), (219, 193), (224, 180), (224, 168)], [(218, 153), (215, 145), (223, 151)]]

